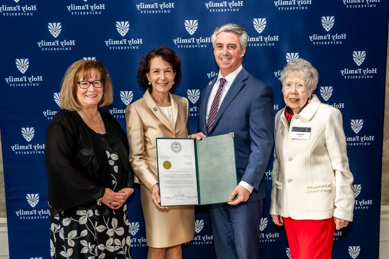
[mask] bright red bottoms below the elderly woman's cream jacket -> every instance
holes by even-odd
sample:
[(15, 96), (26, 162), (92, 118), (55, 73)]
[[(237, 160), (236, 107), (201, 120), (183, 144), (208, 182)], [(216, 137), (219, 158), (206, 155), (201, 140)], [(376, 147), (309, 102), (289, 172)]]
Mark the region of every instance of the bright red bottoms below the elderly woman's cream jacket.
[(329, 259), (334, 240), (334, 219), (293, 220), (284, 218), (292, 259)]

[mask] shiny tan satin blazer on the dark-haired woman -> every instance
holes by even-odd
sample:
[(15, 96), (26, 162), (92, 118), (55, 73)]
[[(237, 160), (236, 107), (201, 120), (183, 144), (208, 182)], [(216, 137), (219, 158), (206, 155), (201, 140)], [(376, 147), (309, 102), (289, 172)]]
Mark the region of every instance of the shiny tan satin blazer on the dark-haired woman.
[(150, 93), (126, 108), (129, 160), (135, 182), (151, 190), (158, 183), (157, 146), (155, 138), (187, 138), (188, 101), (169, 94), (172, 104), (173, 126), (165, 117)]

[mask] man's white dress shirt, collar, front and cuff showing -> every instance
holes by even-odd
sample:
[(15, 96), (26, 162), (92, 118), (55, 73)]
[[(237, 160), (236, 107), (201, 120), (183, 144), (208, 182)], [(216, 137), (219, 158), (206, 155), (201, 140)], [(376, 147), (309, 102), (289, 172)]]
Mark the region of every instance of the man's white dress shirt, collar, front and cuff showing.
[[(219, 110), (220, 108), (220, 105), (221, 103), (223, 102), (223, 99), (225, 97), (225, 95), (227, 94), (229, 88), (231, 87), (231, 84), (232, 82), (234, 82), (235, 78), (237, 77), (237, 75), (239, 74), (239, 72), (242, 70), (243, 66), (240, 65), (235, 71), (229, 73), (228, 75), (226, 75), (224, 77), (224, 79), (226, 80), (224, 85), (223, 85), (223, 89), (221, 90), (221, 95), (220, 95), (220, 101), (219, 101), (219, 106), (217, 107), (217, 109)], [(219, 70), (219, 74), (217, 76), (217, 80), (215, 81), (215, 84), (213, 85), (212, 87), (212, 91), (211, 91), (211, 94), (209, 95), (209, 98), (208, 98), (208, 104), (207, 104), (207, 114), (205, 115), (205, 119), (206, 119), (206, 122), (208, 123), (208, 115), (209, 115), (209, 111), (211, 110), (211, 105), (212, 105), (212, 102), (213, 102), (213, 99), (215, 99), (215, 96), (216, 96), (216, 92), (217, 92), (217, 89), (219, 88), (219, 84), (220, 84), (220, 79), (222, 78), (223, 76), (221, 75), (220, 73), (220, 70)], [(243, 186), (245, 189), (247, 189), (250, 193), (253, 191), (254, 187), (252, 187), (251, 185), (249, 185), (248, 183), (246, 183), (245, 181), (241, 181), (239, 183), (239, 185)]]

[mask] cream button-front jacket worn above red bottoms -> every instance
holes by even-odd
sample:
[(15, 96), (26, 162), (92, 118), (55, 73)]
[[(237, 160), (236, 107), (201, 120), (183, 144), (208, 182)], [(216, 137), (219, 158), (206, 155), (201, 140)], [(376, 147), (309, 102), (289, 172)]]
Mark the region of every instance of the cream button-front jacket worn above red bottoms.
[[(270, 214), (295, 220), (331, 217), (352, 221), (353, 175), (348, 166), (340, 111), (312, 101), (292, 117), (275, 118), (275, 150)], [(292, 139), (290, 127), (311, 129), (308, 140)]]

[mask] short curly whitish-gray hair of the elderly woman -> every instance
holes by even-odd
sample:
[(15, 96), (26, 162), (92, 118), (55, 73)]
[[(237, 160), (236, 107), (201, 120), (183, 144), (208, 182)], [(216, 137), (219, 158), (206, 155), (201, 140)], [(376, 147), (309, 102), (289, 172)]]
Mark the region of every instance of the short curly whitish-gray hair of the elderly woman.
[(308, 61), (304, 59), (295, 59), (290, 61), (281, 73), (281, 83), (284, 88), (285, 80), (289, 76), (293, 76), (296, 74), (302, 75), (304, 77), (304, 82), (307, 87), (307, 89), (311, 89), (313, 91), (316, 90), (316, 87), (318, 86), (319, 81), (319, 73), (316, 68), (312, 64), (310, 64)]

